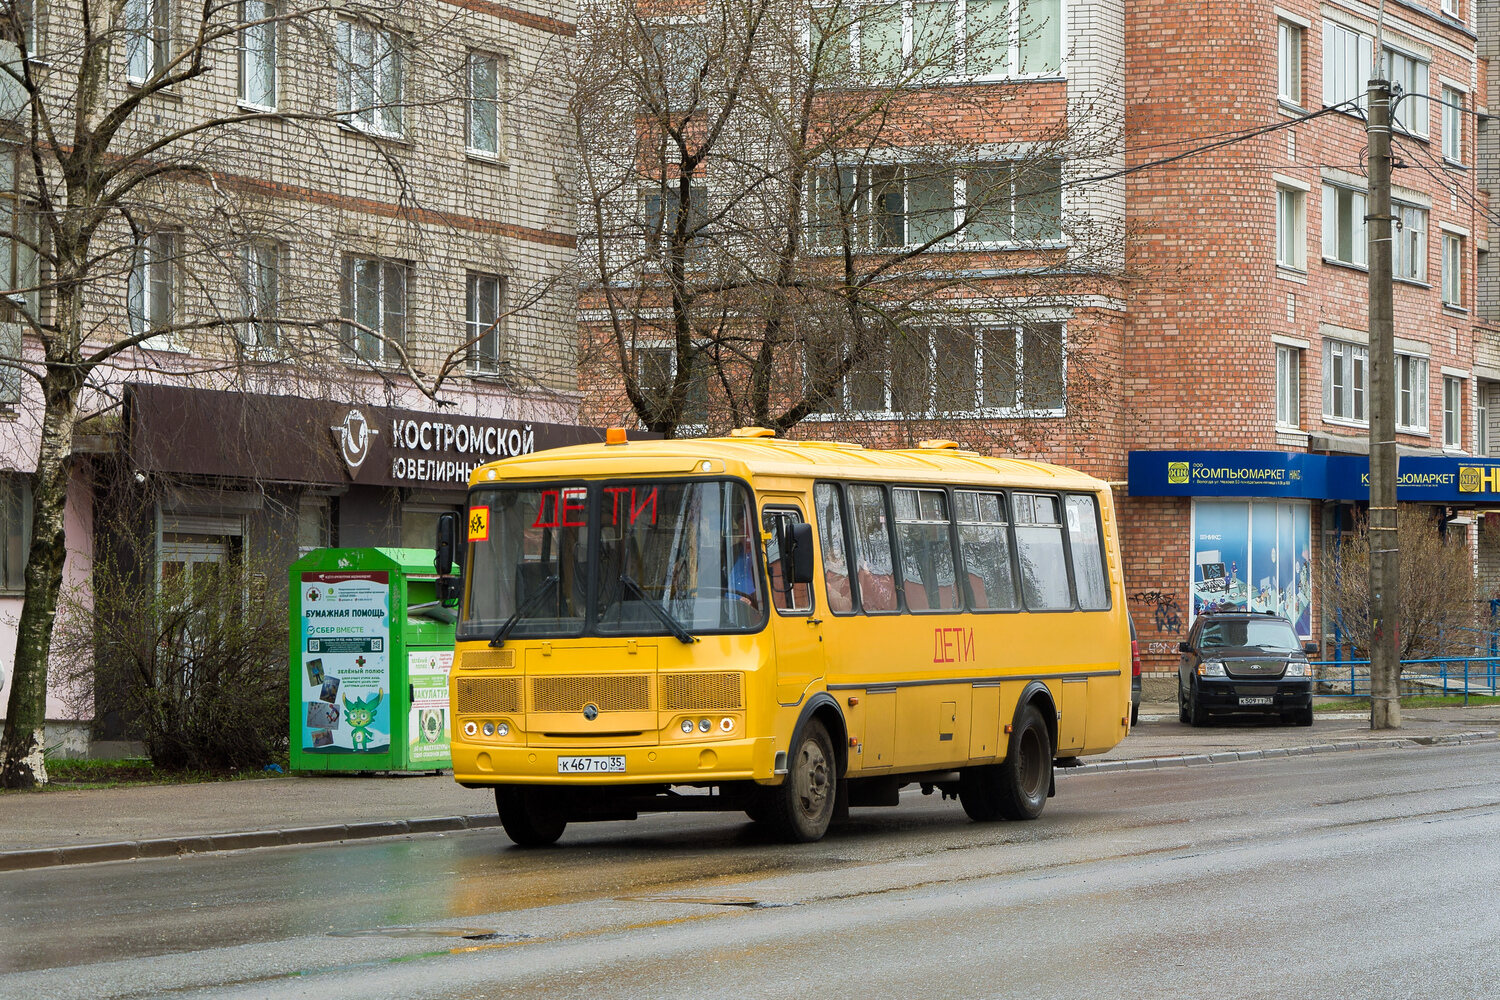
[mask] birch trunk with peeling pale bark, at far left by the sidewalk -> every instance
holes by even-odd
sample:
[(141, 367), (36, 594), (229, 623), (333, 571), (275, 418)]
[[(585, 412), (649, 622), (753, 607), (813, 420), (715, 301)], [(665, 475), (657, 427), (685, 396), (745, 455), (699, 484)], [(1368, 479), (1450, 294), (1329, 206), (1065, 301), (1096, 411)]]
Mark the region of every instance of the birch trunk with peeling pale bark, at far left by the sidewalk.
[(46, 657), (52, 618), (68, 555), (63, 514), (68, 507), (68, 456), (78, 420), (76, 369), (50, 369), (42, 379), (42, 442), (32, 474), (32, 549), (26, 562), (26, 598), (16, 628), (15, 670), (0, 738), (0, 787), (46, 784)]

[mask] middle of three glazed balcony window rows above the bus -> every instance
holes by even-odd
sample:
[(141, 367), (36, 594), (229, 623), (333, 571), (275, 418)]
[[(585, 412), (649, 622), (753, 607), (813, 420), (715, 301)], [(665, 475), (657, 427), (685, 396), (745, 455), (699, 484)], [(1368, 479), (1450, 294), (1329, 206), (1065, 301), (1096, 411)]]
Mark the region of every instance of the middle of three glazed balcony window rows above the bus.
[(840, 246), (1050, 243), (1062, 238), (1056, 160), (820, 169), (810, 240)]

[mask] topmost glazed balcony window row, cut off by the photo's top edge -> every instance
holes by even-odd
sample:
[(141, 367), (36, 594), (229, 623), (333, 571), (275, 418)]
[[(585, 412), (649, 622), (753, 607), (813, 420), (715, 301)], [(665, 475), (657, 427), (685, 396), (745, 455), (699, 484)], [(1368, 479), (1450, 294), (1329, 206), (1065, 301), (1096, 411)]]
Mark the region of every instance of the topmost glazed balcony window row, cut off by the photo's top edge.
[(1062, 0), (867, 0), (814, 6), (808, 37), (825, 76), (1056, 76), (1064, 19)]

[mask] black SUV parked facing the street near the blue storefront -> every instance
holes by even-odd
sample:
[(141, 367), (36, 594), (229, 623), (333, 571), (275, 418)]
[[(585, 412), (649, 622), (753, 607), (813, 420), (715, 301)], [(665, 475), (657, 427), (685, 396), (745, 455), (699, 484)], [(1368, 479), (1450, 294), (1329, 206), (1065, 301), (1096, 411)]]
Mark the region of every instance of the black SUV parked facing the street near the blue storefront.
[(1178, 717), (1184, 723), (1203, 726), (1210, 715), (1258, 714), (1312, 724), (1308, 654), (1317, 646), (1304, 646), (1286, 618), (1200, 615), (1178, 649)]

